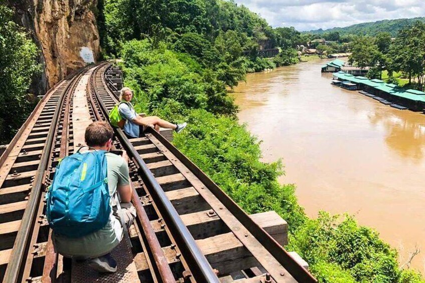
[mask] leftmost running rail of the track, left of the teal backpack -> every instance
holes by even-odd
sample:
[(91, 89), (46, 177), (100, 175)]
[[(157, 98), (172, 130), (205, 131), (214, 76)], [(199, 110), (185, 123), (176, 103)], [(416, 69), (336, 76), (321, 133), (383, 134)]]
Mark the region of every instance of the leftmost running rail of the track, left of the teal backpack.
[(52, 123), (49, 127), (49, 133), (46, 138), (46, 144), (43, 150), (40, 164), (34, 178), (34, 182), (33, 182), (34, 186), (33, 186), (33, 189), (31, 190), (31, 195), (28, 200), (28, 204), (25, 209), (24, 215), (22, 217), (21, 226), (16, 236), (12, 253), (9, 259), (9, 263), (6, 268), (5, 276), (3, 279), (4, 283), (15, 283), (19, 279), (21, 264), (22, 264), (24, 255), (28, 253), (28, 244), (29, 244), (28, 240), (30, 238), (31, 231), (34, 226), (34, 220), (36, 216), (35, 214), (37, 212), (36, 208), (40, 202), (44, 173), (45, 173), (49, 158), (51, 156), (52, 144), (53, 144), (53, 139), (55, 136), (55, 131), (58, 126), (59, 114), (62, 111), (61, 106), (62, 106), (65, 95), (69, 93), (70, 89), (73, 89), (75, 87), (75, 84), (78, 81), (78, 78), (80, 78), (80, 75), (82, 74), (82, 72), (84, 72), (84, 70), (86, 70), (86, 68), (74, 74), (74, 77), (68, 83), (63, 93), (61, 94), (61, 97), (59, 98), (58, 107), (55, 109), (55, 113), (53, 115)]

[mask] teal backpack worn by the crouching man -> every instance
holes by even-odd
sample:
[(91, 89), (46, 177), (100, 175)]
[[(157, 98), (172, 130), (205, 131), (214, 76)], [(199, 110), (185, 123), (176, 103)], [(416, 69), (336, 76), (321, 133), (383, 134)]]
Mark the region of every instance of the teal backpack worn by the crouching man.
[(80, 150), (60, 161), (46, 195), (50, 227), (71, 238), (101, 229), (111, 212), (106, 151)]

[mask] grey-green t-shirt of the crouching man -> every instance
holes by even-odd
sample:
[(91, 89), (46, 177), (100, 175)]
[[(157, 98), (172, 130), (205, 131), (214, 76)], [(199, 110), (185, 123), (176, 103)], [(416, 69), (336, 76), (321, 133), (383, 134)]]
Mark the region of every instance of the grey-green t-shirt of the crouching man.
[[(111, 196), (110, 205), (117, 185), (128, 185), (128, 166), (125, 160), (116, 154), (107, 152), (108, 162), (108, 187)], [(97, 257), (111, 251), (118, 245), (123, 236), (120, 221), (112, 214), (109, 215), (108, 223), (100, 230), (80, 238), (68, 238), (61, 235), (54, 236), (56, 250), (66, 256), (73, 257)]]

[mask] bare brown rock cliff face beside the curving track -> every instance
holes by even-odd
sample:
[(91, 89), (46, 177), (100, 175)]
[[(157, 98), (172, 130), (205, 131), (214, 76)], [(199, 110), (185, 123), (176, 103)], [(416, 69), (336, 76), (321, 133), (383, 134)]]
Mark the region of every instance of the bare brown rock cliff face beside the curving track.
[(10, 4), (43, 52), (40, 61), (45, 72), (34, 87), (37, 92), (98, 58), (99, 32), (93, 12), (97, 0), (11, 0)]

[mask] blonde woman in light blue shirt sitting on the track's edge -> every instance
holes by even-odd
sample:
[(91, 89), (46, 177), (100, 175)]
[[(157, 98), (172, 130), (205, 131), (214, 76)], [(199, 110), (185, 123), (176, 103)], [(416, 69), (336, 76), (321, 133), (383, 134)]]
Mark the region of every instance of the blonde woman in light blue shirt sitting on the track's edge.
[(123, 130), (127, 137), (138, 138), (143, 134), (147, 127), (152, 127), (157, 131), (159, 131), (159, 127), (173, 129), (177, 133), (180, 133), (186, 127), (186, 122), (181, 124), (172, 124), (157, 116), (137, 114), (130, 102), (132, 98), (133, 91), (130, 88), (123, 88), (121, 90), (120, 101), (126, 103), (120, 103), (118, 111), (121, 117), (126, 120)]

